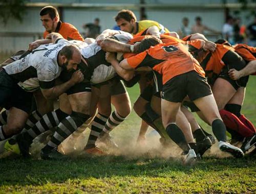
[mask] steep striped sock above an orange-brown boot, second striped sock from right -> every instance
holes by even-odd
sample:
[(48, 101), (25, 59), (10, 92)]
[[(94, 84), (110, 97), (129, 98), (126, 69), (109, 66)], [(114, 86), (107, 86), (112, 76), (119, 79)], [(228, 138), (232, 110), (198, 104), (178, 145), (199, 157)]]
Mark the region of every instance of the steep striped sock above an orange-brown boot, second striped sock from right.
[(106, 120), (108, 120), (108, 116), (102, 115), (100, 113), (98, 113), (95, 116), (92, 122), (91, 133), (85, 149), (90, 149), (95, 147), (96, 140), (99, 137), (100, 132), (103, 130), (106, 124)]

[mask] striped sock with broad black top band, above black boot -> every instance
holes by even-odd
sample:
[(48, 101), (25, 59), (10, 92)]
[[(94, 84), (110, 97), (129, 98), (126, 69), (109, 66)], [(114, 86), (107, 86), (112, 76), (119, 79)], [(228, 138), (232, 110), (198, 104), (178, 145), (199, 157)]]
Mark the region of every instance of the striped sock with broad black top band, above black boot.
[(42, 152), (49, 152), (57, 148), (59, 144), (69, 137), (75, 130), (78, 129), (87, 119), (90, 118), (88, 114), (72, 112), (71, 115), (62, 119), (59, 123), (57, 130), (54, 132), (51, 140), (42, 149)]

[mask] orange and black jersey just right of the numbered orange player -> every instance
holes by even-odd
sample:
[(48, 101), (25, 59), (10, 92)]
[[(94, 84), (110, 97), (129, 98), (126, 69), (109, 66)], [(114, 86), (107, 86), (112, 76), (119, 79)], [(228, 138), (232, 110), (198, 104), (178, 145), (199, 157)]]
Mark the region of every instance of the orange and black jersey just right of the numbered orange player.
[(205, 52), (204, 54), (199, 55), (200, 57), (197, 57), (197, 60), (205, 70), (206, 74), (214, 72), (214, 74), (219, 75), (221, 69), (225, 66), (225, 63), (222, 61), (222, 57), (228, 51), (234, 52), (234, 48), (224, 44), (217, 44), (215, 52)]

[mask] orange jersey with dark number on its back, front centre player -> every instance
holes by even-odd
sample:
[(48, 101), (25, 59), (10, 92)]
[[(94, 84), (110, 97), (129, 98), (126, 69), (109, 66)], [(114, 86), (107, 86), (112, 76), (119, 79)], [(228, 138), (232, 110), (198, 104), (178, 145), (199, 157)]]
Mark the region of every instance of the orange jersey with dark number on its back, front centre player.
[(127, 63), (133, 68), (150, 66), (163, 75), (163, 84), (175, 76), (195, 70), (201, 76), (204, 71), (198, 61), (188, 52), (187, 46), (180, 42), (158, 44), (148, 50), (130, 57)]

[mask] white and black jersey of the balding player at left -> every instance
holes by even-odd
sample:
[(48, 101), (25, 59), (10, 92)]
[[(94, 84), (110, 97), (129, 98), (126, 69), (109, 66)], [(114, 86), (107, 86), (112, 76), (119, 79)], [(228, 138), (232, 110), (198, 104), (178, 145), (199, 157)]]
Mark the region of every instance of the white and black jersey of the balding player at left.
[(58, 53), (70, 42), (58, 39), (56, 44), (41, 45), (26, 57), (3, 67), (7, 74), (26, 91), (52, 88), (60, 75)]

